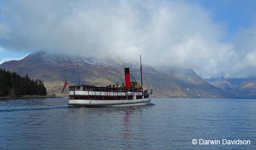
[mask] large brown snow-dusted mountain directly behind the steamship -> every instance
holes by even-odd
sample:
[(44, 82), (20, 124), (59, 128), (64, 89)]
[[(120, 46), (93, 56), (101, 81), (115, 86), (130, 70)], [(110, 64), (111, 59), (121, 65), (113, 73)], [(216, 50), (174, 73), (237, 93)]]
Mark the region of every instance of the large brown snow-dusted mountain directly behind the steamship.
[[(78, 84), (77, 64), (80, 69), (81, 84), (106, 86), (119, 85), (125, 81), (124, 69), (138, 70), (137, 65), (122, 60), (100, 60), (92, 57), (67, 56), (46, 52), (35, 52), (22, 60), (4, 62), (0, 68), (28, 74), (31, 78), (44, 80), (47, 93), (60, 94), (67, 78), (70, 85)], [(131, 72), (140, 81), (138, 72)], [(192, 69), (164, 67), (156, 70), (152, 66), (143, 65), (143, 85), (153, 89), (155, 97), (179, 98), (234, 98), (225, 90), (215, 87), (199, 77)], [(67, 92), (68, 90), (66, 90)]]

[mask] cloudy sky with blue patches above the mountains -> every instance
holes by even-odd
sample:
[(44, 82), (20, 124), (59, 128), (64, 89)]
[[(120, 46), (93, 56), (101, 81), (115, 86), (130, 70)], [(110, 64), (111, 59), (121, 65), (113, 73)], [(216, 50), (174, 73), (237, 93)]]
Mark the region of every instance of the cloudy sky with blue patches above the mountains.
[(254, 1), (0, 1), (0, 63), (39, 50), (256, 77)]

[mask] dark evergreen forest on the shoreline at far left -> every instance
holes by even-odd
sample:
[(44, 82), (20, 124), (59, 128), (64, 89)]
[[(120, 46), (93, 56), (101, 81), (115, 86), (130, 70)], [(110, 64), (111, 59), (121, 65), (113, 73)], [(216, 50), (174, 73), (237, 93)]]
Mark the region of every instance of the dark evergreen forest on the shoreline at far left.
[(19, 74), (15, 72), (0, 69), (0, 97), (46, 94), (46, 87), (42, 80), (31, 80), (27, 74), (25, 77), (20, 77)]

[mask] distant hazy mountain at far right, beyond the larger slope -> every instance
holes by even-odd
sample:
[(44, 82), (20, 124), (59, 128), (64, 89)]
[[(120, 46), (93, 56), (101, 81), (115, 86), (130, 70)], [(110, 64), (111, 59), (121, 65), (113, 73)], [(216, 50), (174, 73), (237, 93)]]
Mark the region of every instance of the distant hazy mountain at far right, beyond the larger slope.
[(207, 81), (238, 98), (256, 98), (256, 78), (212, 78)]

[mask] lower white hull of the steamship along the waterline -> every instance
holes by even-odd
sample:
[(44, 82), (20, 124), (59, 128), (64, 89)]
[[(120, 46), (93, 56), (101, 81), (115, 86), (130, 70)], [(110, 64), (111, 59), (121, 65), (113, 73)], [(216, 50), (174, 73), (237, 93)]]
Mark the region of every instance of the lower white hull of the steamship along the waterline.
[(70, 99), (68, 105), (85, 106), (85, 107), (123, 107), (123, 106), (141, 106), (149, 105), (149, 98), (143, 99), (122, 99), (122, 100), (87, 100), (87, 99)]

